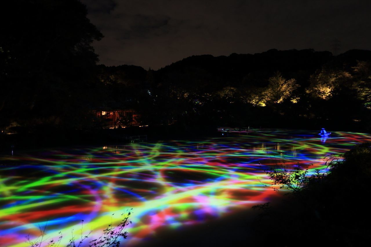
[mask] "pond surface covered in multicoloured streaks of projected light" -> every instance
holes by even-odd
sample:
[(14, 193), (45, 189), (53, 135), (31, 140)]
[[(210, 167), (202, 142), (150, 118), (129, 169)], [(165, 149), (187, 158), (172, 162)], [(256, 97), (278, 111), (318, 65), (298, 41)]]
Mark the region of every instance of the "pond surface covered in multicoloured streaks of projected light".
[[(126, 246), (169, 231), (202, 224), (264, 203), (278, 193), (264, 187), (264, 170), (313, 164), (325, 169), (326, 155), (339, 155), (371, 141), (367, 134), (255, 130), (203, 141), (168, 141), (53, 149), (0, 158), (0, 246), (23, 247), (27, 234), (49, 239), (73, 227), (101, 236), (106, 225), (134, 208)], [(261, 183), (261, 182), (263, 183)], [(113, 215), (112, 215), (113, 214)], [(79, 233), (78, 233), (79, 234)], [(66, 242), (61, 243), (61, 246)]]

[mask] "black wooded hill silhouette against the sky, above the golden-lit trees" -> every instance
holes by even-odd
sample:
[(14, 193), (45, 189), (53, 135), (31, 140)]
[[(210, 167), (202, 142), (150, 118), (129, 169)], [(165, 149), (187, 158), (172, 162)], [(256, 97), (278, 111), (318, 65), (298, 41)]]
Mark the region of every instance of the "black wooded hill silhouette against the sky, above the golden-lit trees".
[(125, 85), (153, 88), (158, 85), (207, 92), (226, 86), (266, 86), (267, 79), (279, 71), (286, 79), (295, 78), (303, 86), (309, 85), (309, 77), (322, 67), (352, 71), (357, 60), (371, 60), (371, 51), (349, 50), (338, 56), (331, 52), (305, 50), (276, 50), (256, 54), (229, 56), (198, 55), (184, 58), (159, 70), (145, 70), (134, 65), (106, 67), (99, 69), (106, 76)]

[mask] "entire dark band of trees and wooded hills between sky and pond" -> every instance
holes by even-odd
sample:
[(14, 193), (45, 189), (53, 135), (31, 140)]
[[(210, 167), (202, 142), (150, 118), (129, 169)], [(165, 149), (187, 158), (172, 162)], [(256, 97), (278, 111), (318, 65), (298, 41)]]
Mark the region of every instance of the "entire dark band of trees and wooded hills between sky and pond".
[(106, 67), (97, 65), (91, 46), (103, 35), (81, 2), (23, 0), (4, 7), (3, 133), (101, 129), (96, 112), (107, 109), (132, 109), (138, 124), (150, 126), (369, 130), (370, 51), (333, 56), (272, 49), (191, 56), (156, 71)]

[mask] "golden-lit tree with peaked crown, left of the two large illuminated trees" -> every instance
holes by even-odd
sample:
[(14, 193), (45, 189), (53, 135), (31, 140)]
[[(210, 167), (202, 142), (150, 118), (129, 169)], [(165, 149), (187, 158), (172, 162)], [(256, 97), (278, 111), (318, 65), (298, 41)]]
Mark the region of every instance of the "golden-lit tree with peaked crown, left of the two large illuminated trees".
[(281, 103), (289, 98), (292, 92), (299, 87), (295, 79), (286, 80), (280, 72), (269, 78), (269, 84), (265, 90), (266, 100), (273, 103)]

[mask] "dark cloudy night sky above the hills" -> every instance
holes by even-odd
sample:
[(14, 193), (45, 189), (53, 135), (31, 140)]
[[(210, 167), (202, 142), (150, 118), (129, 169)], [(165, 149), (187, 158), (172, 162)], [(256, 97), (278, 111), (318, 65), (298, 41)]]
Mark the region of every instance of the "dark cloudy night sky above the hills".
[(371, 1), (82, 0), (100, 63), (159, 69), (192, 55), (371, 50)]

